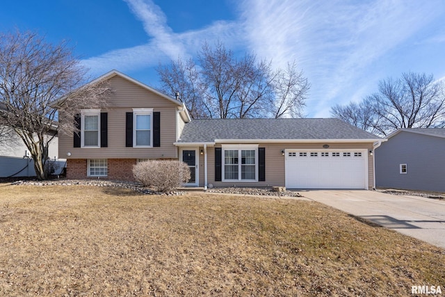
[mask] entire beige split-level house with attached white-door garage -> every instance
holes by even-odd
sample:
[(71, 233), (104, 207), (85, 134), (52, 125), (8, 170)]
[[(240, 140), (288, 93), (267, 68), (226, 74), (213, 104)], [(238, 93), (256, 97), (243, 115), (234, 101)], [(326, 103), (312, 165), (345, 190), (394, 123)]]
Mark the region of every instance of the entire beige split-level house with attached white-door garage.
[[(67, 177), (133, 179), (147, 159), (179, 159), (189, 186), (364, 188), (382, 138), (337, 119), (191, 120), (183, 102), (111, 71), (105, 109), (83, 109), (81, 132), (60, 135)], [(60, 119), (63, 120), (63, 119)]]

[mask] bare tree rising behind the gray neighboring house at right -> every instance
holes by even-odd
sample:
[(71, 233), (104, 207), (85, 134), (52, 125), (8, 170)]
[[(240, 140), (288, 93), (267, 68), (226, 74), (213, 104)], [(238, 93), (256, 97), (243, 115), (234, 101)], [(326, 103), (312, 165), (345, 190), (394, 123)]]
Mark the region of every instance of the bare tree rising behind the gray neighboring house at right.
[(331, 114), (383, 136), (399, 128), (445, 127), (444, 84), (432, 75), (403, 73), (380, 81), (378, 93), (360, 104), (334, 106)]

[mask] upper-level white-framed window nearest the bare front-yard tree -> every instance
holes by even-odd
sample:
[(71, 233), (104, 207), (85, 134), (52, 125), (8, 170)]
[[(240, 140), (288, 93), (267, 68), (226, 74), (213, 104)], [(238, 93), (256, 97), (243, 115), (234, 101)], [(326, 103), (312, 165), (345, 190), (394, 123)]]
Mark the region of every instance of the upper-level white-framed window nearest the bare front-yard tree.
[(83, 109), (81, 117), (81, 147), (100, 147), (100, 109)]

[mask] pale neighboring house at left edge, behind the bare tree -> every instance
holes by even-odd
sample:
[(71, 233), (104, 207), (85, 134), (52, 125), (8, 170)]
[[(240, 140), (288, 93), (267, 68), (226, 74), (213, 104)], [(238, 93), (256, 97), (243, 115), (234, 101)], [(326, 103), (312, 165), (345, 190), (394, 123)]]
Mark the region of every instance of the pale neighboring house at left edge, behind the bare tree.
[[(6, 132), (6, 137), (0, 136), (0, 177), (35, 177), (34, 161), (22, 138), (8, 127), (2, 131)], [(60, 174), (65, 160), (58, 160), (57, 136), (49, 143), (48, 150), (49, 158), (54, 161), (54, 173)]]

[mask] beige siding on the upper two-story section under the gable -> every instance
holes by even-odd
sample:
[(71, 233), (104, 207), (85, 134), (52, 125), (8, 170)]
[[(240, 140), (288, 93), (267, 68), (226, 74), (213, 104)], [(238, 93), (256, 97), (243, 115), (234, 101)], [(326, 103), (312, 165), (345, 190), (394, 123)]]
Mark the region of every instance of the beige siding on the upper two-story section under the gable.
[[(101, 109), (108, 113), (108, 147), (73, 147), (72, 135), (60, 135), (60, 156), (70, 152), (69, 159), (177, 158), (177, 148), (173, 145), (177, 137), (177, 104), (121, 77), (113, 77), (109, 83), (113, 93), (106, 109)], [(133, 108), (153, 108), (153, 112), (161, 113), (161, 147), (125, 146), (125, 116)]]

